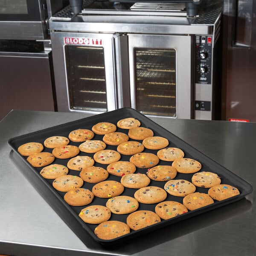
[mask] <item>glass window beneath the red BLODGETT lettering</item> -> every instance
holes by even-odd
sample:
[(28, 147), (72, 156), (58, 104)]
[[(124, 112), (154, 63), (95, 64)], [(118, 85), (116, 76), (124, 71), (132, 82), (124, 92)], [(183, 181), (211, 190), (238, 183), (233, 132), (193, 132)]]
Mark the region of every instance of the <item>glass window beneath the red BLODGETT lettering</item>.
[(65, 46), (71, 110), (107, 111), (104, 49)]

